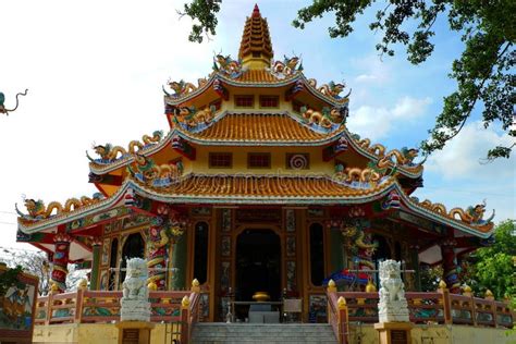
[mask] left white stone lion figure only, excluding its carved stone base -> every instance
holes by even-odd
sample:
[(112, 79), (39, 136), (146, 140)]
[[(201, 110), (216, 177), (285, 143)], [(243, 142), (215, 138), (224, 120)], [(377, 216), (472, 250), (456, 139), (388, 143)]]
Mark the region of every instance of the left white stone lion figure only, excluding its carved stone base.
[(143, 299), (149, 297), (147, 288), (147, 261), (142, 258), (127, 259), (127, 273), (123, 286), (124, 299)]

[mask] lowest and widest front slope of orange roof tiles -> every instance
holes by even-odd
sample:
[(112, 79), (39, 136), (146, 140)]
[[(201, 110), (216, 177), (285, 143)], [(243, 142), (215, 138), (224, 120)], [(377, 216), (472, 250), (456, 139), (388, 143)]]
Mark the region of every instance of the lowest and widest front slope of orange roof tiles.
[(384, 189), (391, 182), (381, 186), (351, 188), (327, 176), (280, 176), (280, 175), (195, 175), (191, 174), (164, 192), (174, 197), (359, 197)]

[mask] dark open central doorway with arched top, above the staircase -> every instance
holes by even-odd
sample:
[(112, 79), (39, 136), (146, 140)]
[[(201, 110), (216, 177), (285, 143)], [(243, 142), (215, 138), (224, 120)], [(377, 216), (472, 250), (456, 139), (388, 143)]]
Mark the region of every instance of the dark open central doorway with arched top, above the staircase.
[(281, 241), (271, 230), (246, 230), (236, 238), (236, 299), (253, 300), (256, 292), (281, 296)]

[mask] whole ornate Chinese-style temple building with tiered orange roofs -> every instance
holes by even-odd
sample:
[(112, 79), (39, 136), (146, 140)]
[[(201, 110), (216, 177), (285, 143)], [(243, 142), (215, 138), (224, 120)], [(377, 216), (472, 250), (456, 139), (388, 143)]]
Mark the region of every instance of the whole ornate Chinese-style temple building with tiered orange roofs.
[(364, 291), (377, 283), (367, 270), (389, 258), (415, 270), (408, 291), (420, 290), (422, 263), (442, 263), (458, 291), (457, 258), (493, 231), (486, 204), (411, 197), (418, 150), (351, 133), (351, 91), (308, 78), (297, 57), (274, 60), (258, 7), (237, 58), (206, 62), (206, 78), (163, 87), (168, 133), (94, 147), (97, 194), (17, 209), (17, 241), (48, 254), (54, 290), (66, 288), (67, 263), (91, 269), (90, 290), (120, 290), (126, 259), (142, 257), (157, 290), (198, 280), (204, 321), (257, 292), (303, 299), (303, 319), (319, 321), (329, 279)]

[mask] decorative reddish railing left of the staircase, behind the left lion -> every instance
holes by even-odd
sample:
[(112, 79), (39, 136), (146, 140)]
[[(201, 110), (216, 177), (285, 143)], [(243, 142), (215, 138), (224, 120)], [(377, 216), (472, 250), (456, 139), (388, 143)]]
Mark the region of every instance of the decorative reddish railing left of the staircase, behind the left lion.
[[(35, 324), (102, 323), (120, 321), (122, 292), (88, 291), (40, 296), (36, 303)], [(200, 290), (150, 291), (150, 321), (175, 324), (181, 343), (188, 343), (199, 315)], [(177, 339), (179, 340), (179, 339)]]

